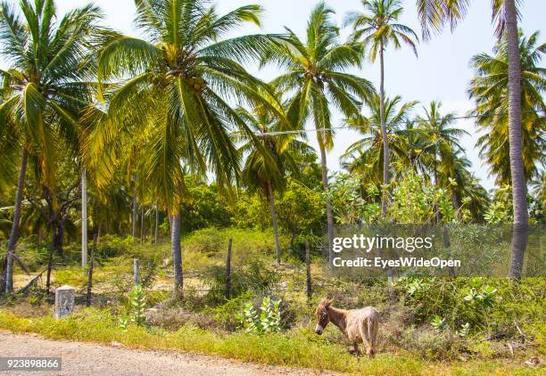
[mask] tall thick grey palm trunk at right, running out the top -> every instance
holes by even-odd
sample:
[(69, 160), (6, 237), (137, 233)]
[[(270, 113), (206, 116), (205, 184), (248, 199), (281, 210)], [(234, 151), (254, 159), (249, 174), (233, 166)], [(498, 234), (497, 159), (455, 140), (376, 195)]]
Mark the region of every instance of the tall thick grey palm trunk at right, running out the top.
[(525, 170), (522, 158), (521, 67), (519, 62), (519, 37), (517, 35), (515, 0), (505, 0), (504, 11), (508, 33), (510, 173), (514, 207), (509, 278), (519, 279), (523, 269), (525, 247), (527, 245), (529, 217), (527, 213)]

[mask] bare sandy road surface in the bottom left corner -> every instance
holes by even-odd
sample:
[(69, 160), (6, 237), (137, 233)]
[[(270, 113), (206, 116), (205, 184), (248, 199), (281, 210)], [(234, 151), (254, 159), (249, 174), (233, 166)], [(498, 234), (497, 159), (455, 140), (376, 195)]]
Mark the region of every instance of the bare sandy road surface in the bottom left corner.
[(181, 352), (141, 351), (119, 344), (54, 341), (0, 331), (0, 356), (61, 356), (62, 371), (0, 372), (0, 375), (326, 375), (312, 370), (249, 364), (213, 356)]

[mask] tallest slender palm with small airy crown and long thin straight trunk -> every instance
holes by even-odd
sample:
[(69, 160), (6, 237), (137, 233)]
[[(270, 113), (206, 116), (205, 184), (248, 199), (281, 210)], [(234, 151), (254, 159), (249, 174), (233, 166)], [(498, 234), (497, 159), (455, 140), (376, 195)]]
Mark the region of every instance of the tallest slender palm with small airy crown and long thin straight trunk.
[[(385, 49), (393, 45), (400, 49), (401, 45), (409, 45), (417, 56), (415, 47), (418, 36), (409, 27), (398, 23), (398, 18), (403, 11), (400, 0), (361, 0), (365, 12), (352, 12), (347, 15), (346, 24), (352, 24), (352, 37), (361, 41), (368, 47), (369, 60), (374, 62), (379, 53), (379, 102), (380, 102), (380, 124), (383, 133), (383, 184), (389, 184), (389, 169), (391, 151), (389, 148), (389, 137), (385, 123)], [(386, 188), (385, 188), (386, 189)], [(388, 196), (386, 191), (381, 200), (381, 216), (386, 216)]]

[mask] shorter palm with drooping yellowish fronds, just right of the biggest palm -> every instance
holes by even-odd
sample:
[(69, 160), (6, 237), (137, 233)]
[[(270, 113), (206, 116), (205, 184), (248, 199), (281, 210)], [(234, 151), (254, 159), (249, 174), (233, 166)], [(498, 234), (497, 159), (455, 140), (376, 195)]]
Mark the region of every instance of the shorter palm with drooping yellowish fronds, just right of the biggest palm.
[(259, 136), (259, 140), (263, 144), (263, 151), (268, 152), (267, 155), (264, 155), (263, 152), (256, 150), (252, 139), (245, 140), (246, 143), (240, 148), (240, 151), (246, 154), (242, 180), (251, 192), (261, 191), (269, 199), (277, 264), (280, 264), (281, 249), (277, 228), (275, 192), (285, 190), (287, 173), (298, 175), (298, 169), (290, 153), (291, 149), (307, 145), (294, 140), (294, 134), (270, 135), (271, 132), (280, 131), (284, 127), (279, 127), (282, 123), (279, 123), (273, 114), (263, 106), (255, 108), (252, 112), (239, 108), (237, 112), (252, 132)]

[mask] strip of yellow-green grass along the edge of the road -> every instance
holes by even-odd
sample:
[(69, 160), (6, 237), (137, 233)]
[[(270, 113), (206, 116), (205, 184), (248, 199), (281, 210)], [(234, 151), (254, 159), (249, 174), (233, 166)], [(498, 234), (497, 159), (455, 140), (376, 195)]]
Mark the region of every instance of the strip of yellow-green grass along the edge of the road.
[[(517, 364), (506, 362), (468, 361), (464, 364), (430, 362), (426, 349), (434, 346), (436, 357), (452, 347), (451, 339), (438, 339), (431, 342), (428, 332), (414, 329), (408, 331), (404, 339), (409, 348), (415, 348), (424, 359), (402, 353), (398, 356), (380, 354), (375, 359), (362, 362), (350, 356), (341, 344), (329, 343), (311, 333), (308, 328), (283, 332), (255, 334), (237, 331), (232, 334), (219, 334), (205, 331), (194, 325), (185, 325), (175, 332), (150, 331), (143, 327), (129, 326), (122, 330), (118, 321), (108, 311), (94, 308), (70, 315), (63, 320), (54, 320), (51, 315), (40, 318), (24, 318), (0, 310), (0, 327), (16, 332), (36, 332), (49, 339), (70, 339), (84, 342), (110, 344), (112, 340), (127, 347), (139, 349), (165, 349), (198, 352), (213, 356), (236, 358), (246, 362), (262, 364), (284, 364), (287, 366), (331, 370), (337, 372), (365, 373), (369, 375), (398, 374), (404, 370), (407, 375), (449, 374), (490, 375), (490, 374), (533, 374)], [(417, 341), (418, 339), (418, 341)], [(252, 351), (249, 351), (252, 349)], [(429, 352), (430, 353), (430, 352)], [(318, 356), (319, 355), (319, 356)]]

